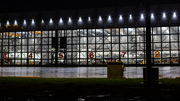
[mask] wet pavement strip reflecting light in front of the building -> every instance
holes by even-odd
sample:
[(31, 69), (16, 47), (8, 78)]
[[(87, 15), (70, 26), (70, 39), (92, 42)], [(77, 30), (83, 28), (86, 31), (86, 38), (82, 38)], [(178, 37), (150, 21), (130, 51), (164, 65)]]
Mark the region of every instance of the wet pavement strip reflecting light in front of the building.
[[(142, 67), (125, 67), (125, 78), (143, 78)], [(159, 78), (176, 78), (179, 66), (161, 66)], [(45, 78), (107, 78), (107, 67), (0, 67), (0, 76)]]

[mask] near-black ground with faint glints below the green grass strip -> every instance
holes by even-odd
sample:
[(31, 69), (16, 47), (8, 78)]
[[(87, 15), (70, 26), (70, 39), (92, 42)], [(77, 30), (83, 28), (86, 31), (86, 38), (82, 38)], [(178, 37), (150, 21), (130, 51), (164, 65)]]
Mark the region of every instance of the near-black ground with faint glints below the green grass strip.
[(177, 101), (180, 87), (101, 83), (12, 83), (1, 80), (0, 101)]

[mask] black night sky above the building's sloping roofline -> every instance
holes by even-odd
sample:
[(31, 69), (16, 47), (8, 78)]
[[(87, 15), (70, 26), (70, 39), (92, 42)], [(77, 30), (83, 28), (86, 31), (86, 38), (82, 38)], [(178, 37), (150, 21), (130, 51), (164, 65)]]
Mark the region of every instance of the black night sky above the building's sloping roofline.
[[(180, 0), (151, 0), (151, 4), (173, 4)], [(138, 6), (145, 0), (0, 0), (0, 13)]]

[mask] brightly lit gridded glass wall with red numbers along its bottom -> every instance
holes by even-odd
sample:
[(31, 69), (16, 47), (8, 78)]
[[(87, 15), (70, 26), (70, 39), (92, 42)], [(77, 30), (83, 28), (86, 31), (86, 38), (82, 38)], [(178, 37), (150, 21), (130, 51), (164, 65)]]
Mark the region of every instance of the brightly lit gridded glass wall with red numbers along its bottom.
[[(179, 30), (179, 26), (151, 28), (152, 63), (179, 64)], [(66, 43), (60, 43), (63, 38)], [(145, 39), (145, 27), (1, 32), (0, 63), (106, 65), (123, 61), (139, 65), (146, 63)]]

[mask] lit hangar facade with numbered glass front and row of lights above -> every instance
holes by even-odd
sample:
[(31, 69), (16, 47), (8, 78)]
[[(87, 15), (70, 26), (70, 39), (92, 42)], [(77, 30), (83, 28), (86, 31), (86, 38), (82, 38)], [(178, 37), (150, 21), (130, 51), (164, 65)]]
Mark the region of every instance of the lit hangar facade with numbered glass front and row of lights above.
[[(179, 4), (151, 6), (151, 63), (179, 65)], [(146, 64), (142, 6), (0, 14), (1, 66)]]

